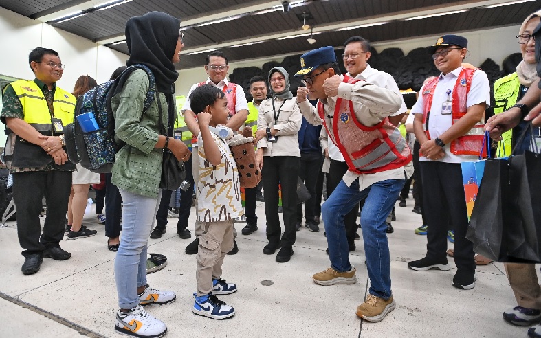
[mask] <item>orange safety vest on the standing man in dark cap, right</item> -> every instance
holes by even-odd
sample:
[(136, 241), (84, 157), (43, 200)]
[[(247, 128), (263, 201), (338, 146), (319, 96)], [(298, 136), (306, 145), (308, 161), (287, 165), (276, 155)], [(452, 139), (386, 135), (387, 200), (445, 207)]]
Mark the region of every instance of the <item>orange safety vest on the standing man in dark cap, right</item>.
[[(452, 91), (451, 113), (452, 124), (455, 124), (461, 117), (467, 113), (467, 94), (470, 93), (472, 86), (472, 78), (476, 69), (463, 68), (456, 79), (456, 84)], [(439, 77), (434, 78), (426, 83), (423, 90), (423, 130), (426, 137), (430, 139), (428, 132), (428, 121), (430, 120), (430, 108), (432, 107), (432, 98), (438, 84)], [(465, 135), (454, 139), (451, 142), (451, 153), (454, 155), (476, 155), (479, 156), (481, 146), (483, 144), (483, 136), (485, 135), (485, 124), (481, 120), (480, 124), (476, 124)], [(483, 147), (483, 157), (487, 156), (487, 149)]]

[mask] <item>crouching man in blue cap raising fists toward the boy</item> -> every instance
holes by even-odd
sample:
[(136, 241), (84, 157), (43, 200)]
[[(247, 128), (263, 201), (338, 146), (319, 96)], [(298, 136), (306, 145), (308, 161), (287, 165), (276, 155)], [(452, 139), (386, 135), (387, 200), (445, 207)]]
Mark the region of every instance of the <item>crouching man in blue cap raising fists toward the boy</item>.
[[(311, 124), (323, 124), (340, 149), (349, 171), (322, 205), (331, 267), (313, 275), (320, 285), (354, 284), (355, 267), (349, 262), (344, 216), (366, 199), (361, 223), (368, 277), (366, 300), (357, 316), (379, 322), (395, 309), (390, 289), (390, 258), (385, 223), (401, 188), (404, 169), (412, 168), (410, 148), (388, 116), (399, 110), (401, 95), (364, 80), (340, 74), (333, 47), (303, 54), (297, 102)], [(307, 101), (319, 99), (317, 109)], [(412, 172), (412, 170), (406, 170)]]

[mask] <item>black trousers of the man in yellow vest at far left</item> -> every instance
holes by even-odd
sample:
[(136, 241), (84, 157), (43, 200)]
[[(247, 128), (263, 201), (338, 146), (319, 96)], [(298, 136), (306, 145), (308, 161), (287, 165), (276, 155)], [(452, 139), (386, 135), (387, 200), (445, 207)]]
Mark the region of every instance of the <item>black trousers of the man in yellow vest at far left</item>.
[[(41, 254), (60, 247), (64, 238), (67, 201), (71, 192), (71, 171), (16, 172), (13, 174), (13, 201), (17, 207), (17, 234), (22, 254)], [(39, 214), (47, 201), (47, 216), (41, 234)], [(40, 236), (41, 235), (41, 236)]]

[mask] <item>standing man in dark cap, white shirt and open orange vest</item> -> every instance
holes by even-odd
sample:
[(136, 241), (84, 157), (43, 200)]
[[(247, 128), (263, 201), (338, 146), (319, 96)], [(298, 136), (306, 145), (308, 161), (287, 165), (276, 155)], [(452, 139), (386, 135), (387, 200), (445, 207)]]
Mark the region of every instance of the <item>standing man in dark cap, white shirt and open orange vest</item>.
[[(452, 285), (473, 289), (475, 269), (473, 245), (466, 239), (467, 210), (461, 162), (479, 158), (485, 126), (484, 113), (490, 105), (487, 74), (481, 69), (463, 67), (467, 39), (444, 35), (428, 47), (440, 76), (426, 82), (411, 109), (419, 149), (423, 181), (423, 212), (430, 225), (426, 256), (408, 263), (415, 271), (448, 271), (447, 222), (454, 230), (456, 273)], [(486, 150), (483, 150), (486, 153)]]

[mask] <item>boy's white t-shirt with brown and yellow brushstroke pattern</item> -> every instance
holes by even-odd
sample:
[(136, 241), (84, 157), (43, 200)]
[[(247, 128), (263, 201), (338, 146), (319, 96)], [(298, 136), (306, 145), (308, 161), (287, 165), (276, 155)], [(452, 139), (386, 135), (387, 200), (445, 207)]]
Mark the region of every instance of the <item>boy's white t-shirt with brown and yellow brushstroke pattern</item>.
[(228, 144), (210, 132), (221, 153), (221, 163), (212, 166), (205, 159), (201, 133), (197, 136), (199, 181), (197, 182), (197, 221), (217, 222), (243, 215), (239, 172)]

